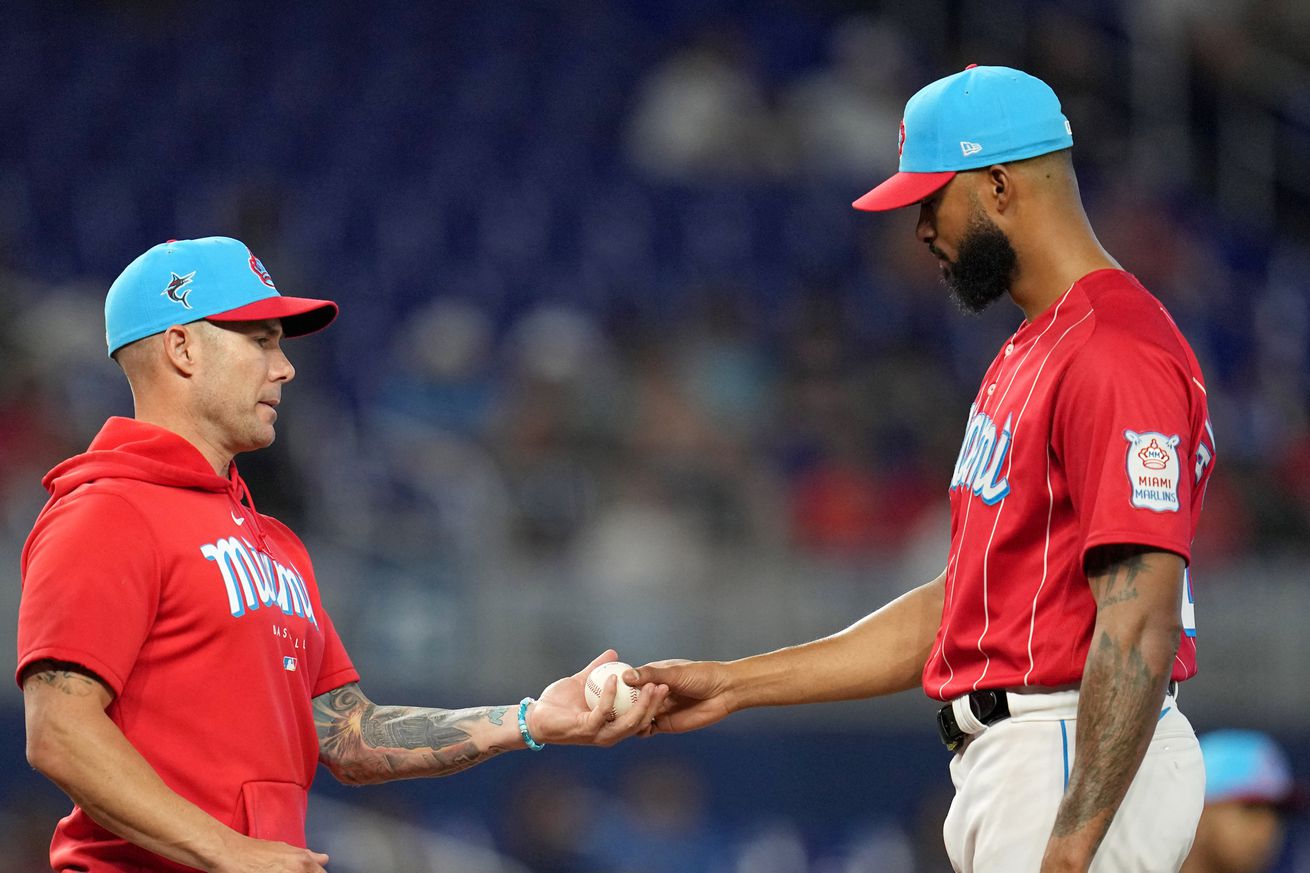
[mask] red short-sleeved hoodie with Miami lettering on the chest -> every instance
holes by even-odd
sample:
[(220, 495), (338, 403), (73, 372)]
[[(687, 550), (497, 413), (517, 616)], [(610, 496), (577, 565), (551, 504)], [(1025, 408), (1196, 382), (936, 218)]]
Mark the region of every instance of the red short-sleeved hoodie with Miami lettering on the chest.
[[(80, 663), (106, 710), (174, 792), (237, 831), (305, 844), (318, 760), (310, 699), (355, 671), (304, 544), (259, 515), (162, 427), (110, 418), (43, 480), (22, 552), (18, 671)], [(246, 502), (242, 502), (245, 498)], [(59, 822), (55, 870), (187, 870), (81, 807)]]

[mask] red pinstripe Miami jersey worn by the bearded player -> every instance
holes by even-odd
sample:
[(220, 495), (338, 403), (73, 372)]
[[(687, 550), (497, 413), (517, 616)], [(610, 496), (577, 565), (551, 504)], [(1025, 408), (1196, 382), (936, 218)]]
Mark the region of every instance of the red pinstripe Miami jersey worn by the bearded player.
[[(1189, 560), (1213, 461), (1200, 366), (1134, 277), (1091, 273), (1024, 322), (969, 408), (927, 695), (1079, 682), (1096, 613), (1087, 551)], [(1184, 589), (1178, 680), (1196, 672), (1189, 573)]]

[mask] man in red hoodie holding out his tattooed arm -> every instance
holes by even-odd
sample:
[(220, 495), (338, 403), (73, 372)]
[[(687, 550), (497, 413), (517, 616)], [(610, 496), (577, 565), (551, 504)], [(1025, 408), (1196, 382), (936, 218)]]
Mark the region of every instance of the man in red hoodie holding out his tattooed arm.
[(134, 418), (45, 478), (22, 553), (28, 759), (72, 800), (59, 872), (316, 873), (305, 805), (322, 762), (350, 784), (443, 776), (512, 748), (608, 746), (648, 725), (647, 684), (605, 721), (591, 667), (538, 700), (384, 707), (359, 687), (299, 537), (259, 514), (234, 457), (272, 443), (288, 337), (328, 300), (282, 296), (241, 242), (173, 240), (109, 290), (109, 354)]

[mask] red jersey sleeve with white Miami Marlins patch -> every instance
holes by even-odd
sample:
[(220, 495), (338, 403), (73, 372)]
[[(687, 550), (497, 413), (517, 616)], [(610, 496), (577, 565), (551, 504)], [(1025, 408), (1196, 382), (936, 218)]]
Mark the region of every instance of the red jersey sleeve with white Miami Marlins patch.
[(1110, 544), (1191, 558), (1189, 395), (1183, 363), (1127, 330), (1098, 330), (1070, 362), (1051, 442), (1078, 515), (1083, 558)]

